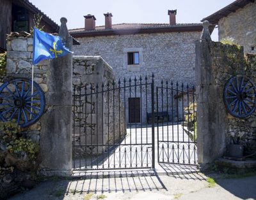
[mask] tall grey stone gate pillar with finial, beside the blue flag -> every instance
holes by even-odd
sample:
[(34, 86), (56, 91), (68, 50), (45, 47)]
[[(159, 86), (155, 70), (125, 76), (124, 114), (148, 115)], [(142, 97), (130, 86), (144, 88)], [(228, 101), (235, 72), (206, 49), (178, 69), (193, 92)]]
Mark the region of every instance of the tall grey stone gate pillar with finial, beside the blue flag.
[[(61, 18), (60, 37), (72, 50), (67, 19)], [(40, 167), (45, 175), (72, 173), (72, 54), (52, 59), (47, 74), (49, 91), (45, 101), (49, 109), (41, 118)]]

